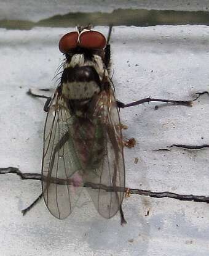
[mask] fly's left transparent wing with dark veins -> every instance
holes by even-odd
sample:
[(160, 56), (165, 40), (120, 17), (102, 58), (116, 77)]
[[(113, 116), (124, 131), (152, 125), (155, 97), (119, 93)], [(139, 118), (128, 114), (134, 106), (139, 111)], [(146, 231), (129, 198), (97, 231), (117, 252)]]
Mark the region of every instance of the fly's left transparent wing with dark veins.
[(74, 150), (71, 116), (58, 92), (50, 103), (44, 128), (42, 191), (54, 217), (68, 217), (83, 187), (81, 163)]

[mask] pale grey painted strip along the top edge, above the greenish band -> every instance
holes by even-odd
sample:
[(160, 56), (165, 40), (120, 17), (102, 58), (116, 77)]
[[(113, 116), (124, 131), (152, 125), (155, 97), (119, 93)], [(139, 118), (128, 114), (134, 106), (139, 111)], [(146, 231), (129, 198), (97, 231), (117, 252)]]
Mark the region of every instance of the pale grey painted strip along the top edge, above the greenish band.
[(112, 12), (115, 9), (205, 10), (207, 0), (0, 0), (0, 20), (31, 20), (37, 22), (68, 12)]

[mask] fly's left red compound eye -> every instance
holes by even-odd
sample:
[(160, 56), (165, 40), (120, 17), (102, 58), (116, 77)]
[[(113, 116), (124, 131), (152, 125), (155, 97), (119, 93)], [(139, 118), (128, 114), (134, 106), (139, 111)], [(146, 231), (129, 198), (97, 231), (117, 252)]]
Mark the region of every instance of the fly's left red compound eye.
[(78, 36), (79, 34), (76, 31), (69, 32), (63, 36), (59, 43), (60, 52), (66, 53), (69, 50), (76, 48)]

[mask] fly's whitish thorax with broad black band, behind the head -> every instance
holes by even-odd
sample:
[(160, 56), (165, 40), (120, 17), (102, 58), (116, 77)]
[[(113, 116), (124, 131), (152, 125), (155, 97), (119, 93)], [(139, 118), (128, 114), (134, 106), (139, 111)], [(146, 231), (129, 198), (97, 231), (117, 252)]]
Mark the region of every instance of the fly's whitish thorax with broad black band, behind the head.
[(61, 76), (61, 93), (68, 99), (90, 99), (101, 91), (108, 71), (100, 56), (84, 53), (66, 59)]

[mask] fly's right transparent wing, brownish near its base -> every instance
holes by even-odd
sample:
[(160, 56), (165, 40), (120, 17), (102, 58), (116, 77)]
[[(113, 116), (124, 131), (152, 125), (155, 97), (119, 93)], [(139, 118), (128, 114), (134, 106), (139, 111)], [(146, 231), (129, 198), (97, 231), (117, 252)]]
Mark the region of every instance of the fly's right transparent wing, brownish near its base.
[(121, 125), (112, 89), (96, 96), (92, 109), (96, 131), (85, 187), (100, 215), (111, 218), (122, 204), (125, 187)]

